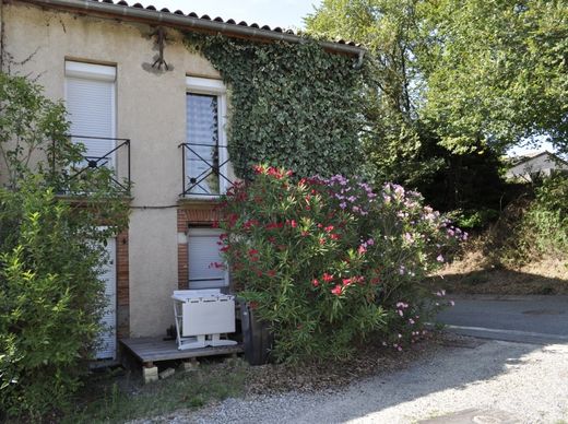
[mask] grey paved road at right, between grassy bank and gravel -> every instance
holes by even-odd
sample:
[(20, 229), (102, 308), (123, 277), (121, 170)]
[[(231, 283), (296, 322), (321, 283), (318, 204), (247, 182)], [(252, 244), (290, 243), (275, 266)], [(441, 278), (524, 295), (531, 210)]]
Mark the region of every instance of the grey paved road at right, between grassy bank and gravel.
[(448, 330), (521, 343), (568, 343), (568, 296), (453, 296), (438, 319)]

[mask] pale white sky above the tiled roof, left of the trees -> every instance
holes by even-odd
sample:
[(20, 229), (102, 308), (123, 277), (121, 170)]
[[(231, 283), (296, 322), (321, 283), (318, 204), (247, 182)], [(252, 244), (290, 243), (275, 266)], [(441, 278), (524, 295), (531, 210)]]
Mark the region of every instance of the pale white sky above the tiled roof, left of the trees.
[(196, 12), (208, 14), (211, 19), (223, 17), (245, 21), (249, 25), (280, 26), (282, 28), (303, 28), (303, 17), (313, 12), (313, 5), (321, 0), (140, 0), (143, 5), (153, 4), (158, 10), (168, 8), (170, 11)]

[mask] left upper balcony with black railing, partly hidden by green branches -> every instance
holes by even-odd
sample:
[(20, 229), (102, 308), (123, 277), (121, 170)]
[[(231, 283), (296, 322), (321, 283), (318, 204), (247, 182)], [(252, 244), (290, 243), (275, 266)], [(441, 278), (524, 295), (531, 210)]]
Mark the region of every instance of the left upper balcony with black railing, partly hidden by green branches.
[[(90, 179), (97, 170), (105, 184), (110, 184), (111, 189), (121, 196), (130, 196), (130, 140), (108, 137), (69, 136), (73, 143), (82, 143), (85, 151), (81, 158), (64, 169), (58, 169), (51, 157), (51, 172), (60, 176), (61, 193), (82, 195), (90, 192), (90, 187), (82, 182), (87, 180), (96, 184), (96, 178)], [(54, 152), (56, 149), (54, 149)], [(79, 187), (79, 188), (76, 188)]]

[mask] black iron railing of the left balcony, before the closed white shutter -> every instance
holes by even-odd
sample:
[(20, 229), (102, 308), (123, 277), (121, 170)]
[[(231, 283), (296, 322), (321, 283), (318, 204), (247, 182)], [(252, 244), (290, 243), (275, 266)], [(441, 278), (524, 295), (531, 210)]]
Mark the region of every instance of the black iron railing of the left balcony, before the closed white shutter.
[[(80, 162), (63, 170), (66, 181), (71, 182), (81, 178), (88, 170), (106, 168), (110, 170), (109, 178), (115, 189), (125, 195), (130, 195), (130, 139), (72, 134), (69, 138), (74, 143), (83, 142), (87, 149), (86, 153), (81, 155)], [(97, 142), (99, 142), (98, 145)], [(93, 153), (94, 151), (96, 153)], [(51, 166), (52, 172), (56, 173), (55, 158), (52, 158)]]

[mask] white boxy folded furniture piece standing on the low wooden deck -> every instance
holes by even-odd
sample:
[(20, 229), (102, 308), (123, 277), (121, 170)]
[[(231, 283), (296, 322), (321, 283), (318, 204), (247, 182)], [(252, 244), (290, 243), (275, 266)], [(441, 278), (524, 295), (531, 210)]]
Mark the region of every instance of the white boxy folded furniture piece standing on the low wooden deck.
[(178, 290), (171, 298), (178, 350), (237, 344), (221, 339), (221, 334), (235, 332), (235, 296), (209, 288)]

